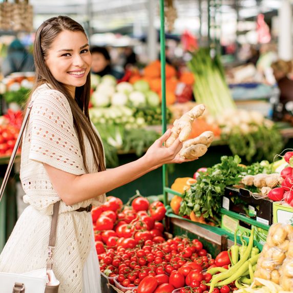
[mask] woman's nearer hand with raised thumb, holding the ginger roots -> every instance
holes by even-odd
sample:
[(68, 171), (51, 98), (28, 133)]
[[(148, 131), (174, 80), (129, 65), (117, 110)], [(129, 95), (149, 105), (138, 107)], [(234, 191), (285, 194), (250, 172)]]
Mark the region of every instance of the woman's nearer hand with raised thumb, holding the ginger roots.
[(177, 138), (169, 148), (163, 147), (163, 143), (170, 137), (171, 129), (168, 129), (149, 148), (144, 157), (153, 166), (161, 166), (168, 163), (182, 163), (186, 160), (180, 159), (178, 153), (182, 149), (182, 142)]

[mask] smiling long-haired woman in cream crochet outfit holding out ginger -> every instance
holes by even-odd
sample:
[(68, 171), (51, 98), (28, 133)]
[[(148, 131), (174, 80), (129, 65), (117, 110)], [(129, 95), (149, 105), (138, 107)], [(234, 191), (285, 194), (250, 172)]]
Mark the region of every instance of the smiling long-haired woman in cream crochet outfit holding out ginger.
[[(23, 138), (20, 179), (30, 205), (0, 256), (0, 271), (44, 268), (53, 204), (60, 201), (54, 273), (62, 293), (100, 292), (90, 204), (164, 163), (181, 163), (182, 143), (168, 149), (168, 130), (138, 160), (106, 170), (101, 140), (89, 119), (91, 54), (82, 27), (66, 16), (48, 19), (34, 43), (36, 82)], [(83, 210), (83, 211), (82, 211)]]

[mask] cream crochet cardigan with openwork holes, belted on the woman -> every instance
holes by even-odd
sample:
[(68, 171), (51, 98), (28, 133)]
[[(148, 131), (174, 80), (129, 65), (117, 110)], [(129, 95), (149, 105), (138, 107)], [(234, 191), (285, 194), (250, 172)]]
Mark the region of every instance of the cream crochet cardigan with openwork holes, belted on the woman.
[[(66, 97), (47, 85), (32, 96), (33, 107), (24, 134), (20, 180), (30, 205), (19, 217), (0, 255), (0, 271), (25, 273), (46, 267), (53, 203), (60, 200), (43, 163), (75, 175), (85, 174), (72, 112)], [(97, 172), (88, 139), (88, 168)], [(98, 192), (97, 192), (98, 194)], [(82, 292), (82, 268), (91, 245), (91, 214), (72, 212), (90, 203), (102, 204), (106, 196), (72, 206), (60, 204), (53, 270), (60, 293)]]

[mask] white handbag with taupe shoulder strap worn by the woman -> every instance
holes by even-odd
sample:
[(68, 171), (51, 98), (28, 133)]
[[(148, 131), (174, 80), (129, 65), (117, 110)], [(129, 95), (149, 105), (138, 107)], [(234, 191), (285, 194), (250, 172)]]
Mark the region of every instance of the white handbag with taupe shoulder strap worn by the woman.
[[(32, 102), (30, 102), (28, 106), (28, 110), (26, 116), (24, 118), (24, 122), (19, 131), (19, 135), (17, 137), (15, 147), (11, 154), (8, 168), (3, 179), (3, 183), (0, 189), (0, 201), (2, 199), (4, 189), (7, 184), (8, 177), (10, 175), (12, 165), (15, 159), (15, 155), (17, 149), (20, 144), (20, 140), (22, 139), (24, 129), (29, 119), (29, 115), (32, 109)], [(2, 273), (0, 272), (0, 287), (1, 293), (57, 293), (59, 288), (59, 281), (56, 279), (52, 266), (53, 266), (53, 249), (55, 248), (55, 239), (56, 239), (56, 228), (57, 228), (57, 220), (59, 213), (59, 205), (60, 201), (54, 203), (53, 206), (53, 216), (52, 216), (52, 224), (50, 231), (50, 240), (48, 246), (48, 258), (47, 258), (47, 267), (44, 269), (37, 269), (33, 271), (29, 271), (25, 274), (13, 274), (13, 273)]]

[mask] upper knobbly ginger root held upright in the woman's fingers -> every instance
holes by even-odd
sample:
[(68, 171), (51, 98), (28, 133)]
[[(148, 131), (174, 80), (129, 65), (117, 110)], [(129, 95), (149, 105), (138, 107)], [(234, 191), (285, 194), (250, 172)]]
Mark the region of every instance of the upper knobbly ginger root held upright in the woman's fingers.
[(203, 114), (205, 110), (204, 104), (195, 106), (190, 111), (186, 112), (181, 118), (176, 119), (171, 129), (171, 136), (165, 141), (165, 147), (169, 148), (179, 136), (179, 140), (185, 141), (192, 130), (193, 120)]

